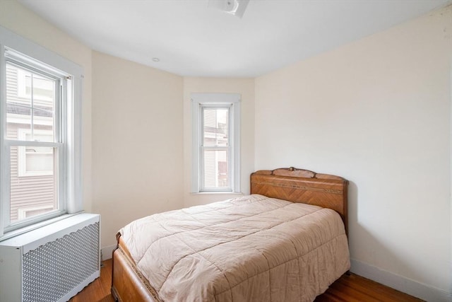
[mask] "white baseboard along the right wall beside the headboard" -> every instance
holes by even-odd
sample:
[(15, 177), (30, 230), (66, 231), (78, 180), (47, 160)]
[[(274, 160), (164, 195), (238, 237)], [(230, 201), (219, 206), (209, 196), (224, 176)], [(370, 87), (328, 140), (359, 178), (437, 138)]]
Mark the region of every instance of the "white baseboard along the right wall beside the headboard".
[(367, 279), (374, 280), (380, 284), (392, 287), (398, 291), (432, 302), (452, 301), (452, 293), (436, 289), (433, 286), (422, 284), (412, 279), (393, 274), (378, 267), (368, 265), (358, 260), (350, 259), (352, 267), (350, 272), (355, 273)]

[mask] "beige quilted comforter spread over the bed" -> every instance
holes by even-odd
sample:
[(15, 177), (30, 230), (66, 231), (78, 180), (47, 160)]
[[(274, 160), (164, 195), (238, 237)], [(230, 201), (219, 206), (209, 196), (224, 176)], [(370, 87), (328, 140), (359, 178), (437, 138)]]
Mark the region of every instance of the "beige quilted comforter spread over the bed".
[(313, 301), (350, 268), (331, 209), (251, 195), (121, 229), (162, 301)]

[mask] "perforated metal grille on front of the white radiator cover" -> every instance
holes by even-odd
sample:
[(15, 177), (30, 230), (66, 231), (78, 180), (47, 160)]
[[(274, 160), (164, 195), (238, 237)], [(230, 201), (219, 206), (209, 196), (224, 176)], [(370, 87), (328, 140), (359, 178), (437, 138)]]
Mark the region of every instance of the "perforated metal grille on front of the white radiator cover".
[(23, 255), (23, 301), (57, 301), (99, 267), (99, 223)]

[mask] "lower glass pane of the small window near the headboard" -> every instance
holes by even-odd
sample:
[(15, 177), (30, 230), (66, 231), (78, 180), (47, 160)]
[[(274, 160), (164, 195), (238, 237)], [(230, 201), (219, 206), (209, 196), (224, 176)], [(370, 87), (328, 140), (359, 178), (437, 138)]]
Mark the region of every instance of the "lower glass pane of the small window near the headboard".
[(230, 187), (226, 150), (204, 150), (204, 187)]

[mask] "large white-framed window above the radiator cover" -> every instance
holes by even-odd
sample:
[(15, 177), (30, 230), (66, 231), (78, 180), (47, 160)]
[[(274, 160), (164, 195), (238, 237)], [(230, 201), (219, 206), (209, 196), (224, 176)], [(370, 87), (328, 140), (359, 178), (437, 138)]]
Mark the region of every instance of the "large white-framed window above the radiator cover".
[(81, 68), (1, 27), (0, 50), (1, 240), (82, 202)]

